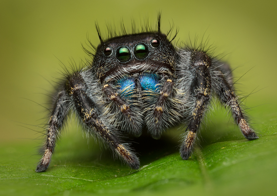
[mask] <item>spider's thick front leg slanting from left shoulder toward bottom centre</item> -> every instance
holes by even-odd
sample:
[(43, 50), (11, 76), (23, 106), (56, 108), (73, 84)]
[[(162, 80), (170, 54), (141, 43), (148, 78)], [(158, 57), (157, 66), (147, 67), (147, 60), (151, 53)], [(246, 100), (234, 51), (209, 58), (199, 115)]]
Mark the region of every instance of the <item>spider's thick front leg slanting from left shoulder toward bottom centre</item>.
[(90, 95), (92, 91), (90, 88), (93, 88), (93, 85), (90, 87), (86, 85), (86, 77), (88, 76), (85, 73), (76, 72), (68, 77), (66, 82), (67, 93), (74, 102), (78, 116), (90, 133), (107, 144), (131, 168), (139, 169), (137, 156), (126, 144), (122, 143), (119, 135), (113, 130), (113, 126), (101, 117), (97, 104)]

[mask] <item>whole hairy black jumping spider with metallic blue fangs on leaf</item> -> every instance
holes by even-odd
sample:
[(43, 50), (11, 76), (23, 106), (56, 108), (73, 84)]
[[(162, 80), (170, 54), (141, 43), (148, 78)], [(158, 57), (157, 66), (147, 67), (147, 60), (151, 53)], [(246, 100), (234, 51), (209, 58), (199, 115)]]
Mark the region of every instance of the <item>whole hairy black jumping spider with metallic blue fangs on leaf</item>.
[[(203, 47), (176, 49), (158, 30), (124, 33), (102, 40), (89, 67), (68, 73), (59, 88), (48, 122), (45, 150), (36, 168), (49, 167), (56, 140), (72, 110), (88, 134), (102, 140), (132, 169), (139, 159), (119, 131), (139, 137), (146, 128), (159, 139), (169, 127), (183, 124), (187, 134), (180, 147), (189, 158), (212, 95), (228, 106), (245, 138), (258, 139), (234, 93), (230, 68)], [(126, 32), (126, 31), (125, 31)], [(176, 36), (176, 35), (175, 35)]]

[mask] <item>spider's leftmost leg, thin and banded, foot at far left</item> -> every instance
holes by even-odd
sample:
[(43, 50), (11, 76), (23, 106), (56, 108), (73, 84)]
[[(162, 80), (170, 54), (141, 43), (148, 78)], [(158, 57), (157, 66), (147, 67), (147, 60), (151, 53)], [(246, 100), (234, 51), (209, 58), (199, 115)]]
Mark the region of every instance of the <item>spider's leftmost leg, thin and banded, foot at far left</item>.
[(66, 97), (66, 92), (62, 90), (58, 93), (58, 99), (54, 104), (54, 109), (50, 116), (50, 120), (48, 122), (48, 130), (46, 134), (46, 142), (42, 159), (40, 159), (38, 166), (36, 168), (36, 172), (45, 171), (51, 162), (51, 157), (54, 152), (54, 147), (56, 145), (56, 140), (58, 138), (59, 131), (62, 127), (66, 119), (66, 114), (68, 111), (68, 100)]

